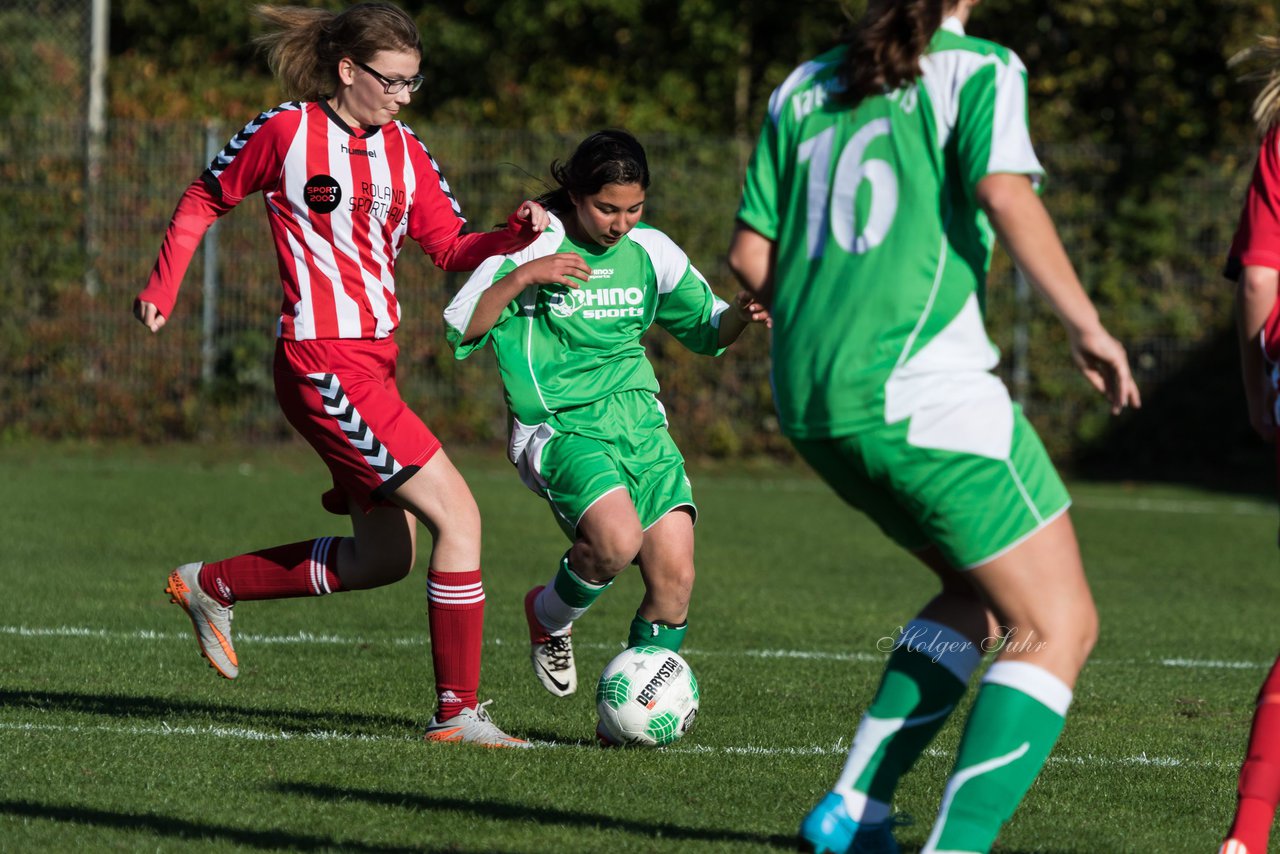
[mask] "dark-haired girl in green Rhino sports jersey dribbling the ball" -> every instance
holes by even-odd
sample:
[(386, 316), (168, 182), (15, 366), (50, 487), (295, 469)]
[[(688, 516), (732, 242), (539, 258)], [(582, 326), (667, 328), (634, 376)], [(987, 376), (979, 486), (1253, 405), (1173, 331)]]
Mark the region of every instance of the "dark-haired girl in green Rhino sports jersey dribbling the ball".
[(547, 232), (485, 261), (444, 318), (458, 359), (493, 344), (508, 456), (573, 542), (525, 598), (534, 672), (567, 697), (573, 621), (628, 565), (645, 583), (628, 645), (675, 650), (687, 629), (696, 508), (641, 335), (657, 323), (719, 355), (768, 315), (746, 292), (717, 298), (685, 252), (640, 222), (649, 166), (630, 133), (591, 134), (552, 175)]

